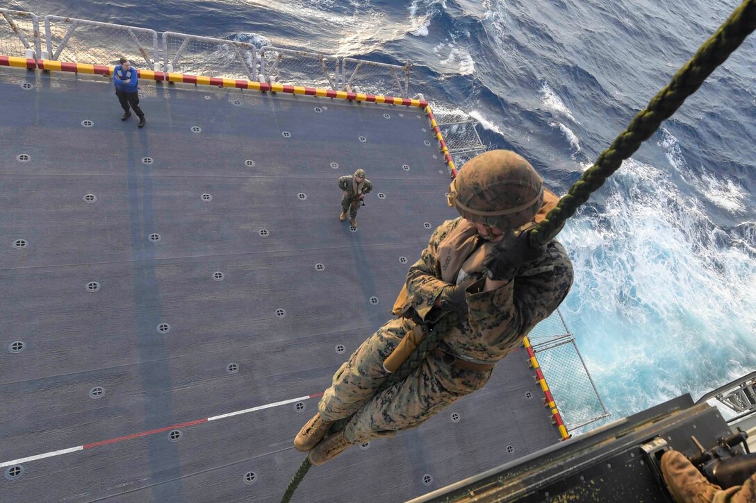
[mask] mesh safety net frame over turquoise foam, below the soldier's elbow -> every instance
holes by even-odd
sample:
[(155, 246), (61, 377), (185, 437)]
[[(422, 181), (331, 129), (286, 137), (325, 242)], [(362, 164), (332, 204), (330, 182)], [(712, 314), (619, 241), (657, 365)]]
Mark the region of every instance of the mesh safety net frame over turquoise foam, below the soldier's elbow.
[(574, 337), (563, 335), (532, 347), (568, 431), (609, 416)]

